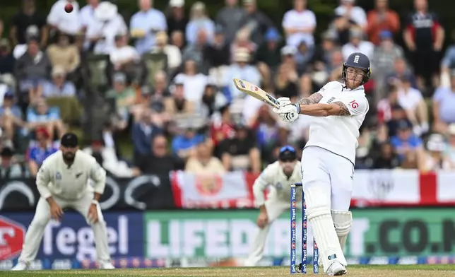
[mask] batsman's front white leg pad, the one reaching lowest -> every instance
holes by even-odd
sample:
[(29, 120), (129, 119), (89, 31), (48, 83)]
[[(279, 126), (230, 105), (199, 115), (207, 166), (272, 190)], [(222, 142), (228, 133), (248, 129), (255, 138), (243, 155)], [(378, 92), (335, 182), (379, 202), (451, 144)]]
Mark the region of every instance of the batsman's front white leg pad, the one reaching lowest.
[(312, 224), (314, 237), (318, 244), (319, 256), (324, 269), (338, 261), (346, 265), (330, 211), (330, 195), (324, 187), (308, 186), (305, 188), (307, 218)]

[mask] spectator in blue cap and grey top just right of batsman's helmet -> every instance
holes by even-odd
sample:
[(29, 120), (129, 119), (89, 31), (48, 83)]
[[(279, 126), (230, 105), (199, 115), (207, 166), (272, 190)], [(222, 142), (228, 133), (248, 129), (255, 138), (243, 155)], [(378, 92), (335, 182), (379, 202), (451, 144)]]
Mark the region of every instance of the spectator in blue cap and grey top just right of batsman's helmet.
[(374, 94), (374, 103), (379, 102), (386, 95), (387, 82), (390, 69), (394, 67), (396, 59), (403, 59), (403, 49), (394, 43), (393, 34), (384, 30), (379, 33), (381, 38), (379, 45), (374, 47), (372, 57), (372, 71), (374, 71), (374, 83), (376, 90)]

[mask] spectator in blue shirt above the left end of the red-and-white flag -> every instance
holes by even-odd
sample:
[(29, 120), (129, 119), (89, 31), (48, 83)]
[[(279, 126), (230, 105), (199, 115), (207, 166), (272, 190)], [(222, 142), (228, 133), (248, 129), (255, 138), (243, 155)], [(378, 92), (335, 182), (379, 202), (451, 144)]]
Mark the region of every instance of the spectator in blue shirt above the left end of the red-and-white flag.
[(179, 158), (187, 159), (190, 155), (195, 154), (196, 146), (203, 143), (205, 137), (197, 134), (191, 126), (184, 129), (182, 135), (177, 135), (172, 139), (172, 152)]

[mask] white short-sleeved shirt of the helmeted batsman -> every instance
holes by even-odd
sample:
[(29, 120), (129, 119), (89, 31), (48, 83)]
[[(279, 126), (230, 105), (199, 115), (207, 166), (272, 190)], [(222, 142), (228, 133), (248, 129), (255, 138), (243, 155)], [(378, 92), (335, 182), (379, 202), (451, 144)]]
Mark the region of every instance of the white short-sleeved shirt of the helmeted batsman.
[(309, 140), (305, 147), (318, 146), (355, 163), (359, 129), (370, 110), (363, 86), (353, 90), (343, 83), (331, 81), (318, 91), (323, 98), (319, 103), (343, 102), (350, 116), (313, 117), (309, 126)]

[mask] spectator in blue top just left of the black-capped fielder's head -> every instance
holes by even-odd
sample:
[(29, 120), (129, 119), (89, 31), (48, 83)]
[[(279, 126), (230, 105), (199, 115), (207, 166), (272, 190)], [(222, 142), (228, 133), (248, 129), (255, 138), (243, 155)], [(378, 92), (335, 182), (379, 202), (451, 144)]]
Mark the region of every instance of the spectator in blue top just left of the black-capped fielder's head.
[(59, 148), (52, 146), (49, 131), (45, 127), (39, 127), (35, 130), (35, 138), (37, 144), (30, 146), (27, 151), (28, 171), (32, 177), (36, 177), (42, 162), (55, 153)]

